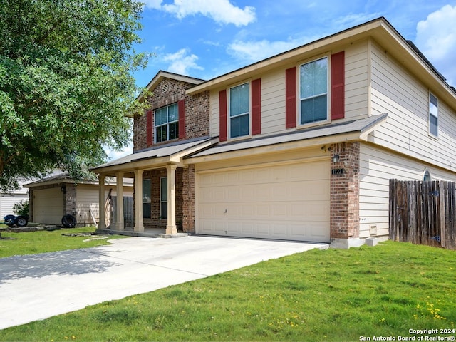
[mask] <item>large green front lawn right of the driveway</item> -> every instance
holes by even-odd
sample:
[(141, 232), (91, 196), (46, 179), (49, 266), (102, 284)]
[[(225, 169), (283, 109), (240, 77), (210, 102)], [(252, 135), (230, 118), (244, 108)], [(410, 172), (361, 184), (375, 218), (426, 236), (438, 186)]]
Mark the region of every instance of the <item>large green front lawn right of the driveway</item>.
[(0, 341), (361, 341), (455, 329), (455, 256), (398, 242), (315, 249), (7, 328)]

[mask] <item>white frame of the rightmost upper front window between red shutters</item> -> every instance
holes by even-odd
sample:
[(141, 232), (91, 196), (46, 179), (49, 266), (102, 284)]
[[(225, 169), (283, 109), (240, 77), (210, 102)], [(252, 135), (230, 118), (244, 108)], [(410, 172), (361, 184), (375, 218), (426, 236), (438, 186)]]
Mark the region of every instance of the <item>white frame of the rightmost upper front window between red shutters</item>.
[[(311, 121), (307, 123), (302, 123), (302, 106), (301, 103), (303, 100), (309, 99), (309, 98), (317, 98), (318, 96), (321, 96), (323, 93), (319, 95), (313, 95), (309, 96), (306, 98), (301, 97), (301, 80), (302, 80), (302, 74), (301, 74), (301, 67), (305, 66), (310, 63), (315, 63), (317, 61), (321, 61), (323, 59), (326, 59), (326, 118), (323, 120), (316, 120), (316, 121)], [(298, 63), (296, 66), (296, 72), (298, 73), (297, 77), (297, 84), (296, 84), (296, 123), (298, 128), (308, 128), (311, 126), (315, 125), (323, 125), (325, 123), (330, 123), (331, 122), (331, 54), (330, 53), (325, 53), (324, 55), (317, 56), (316, 58), (311, 58), (306, 61), (301, 61)]]

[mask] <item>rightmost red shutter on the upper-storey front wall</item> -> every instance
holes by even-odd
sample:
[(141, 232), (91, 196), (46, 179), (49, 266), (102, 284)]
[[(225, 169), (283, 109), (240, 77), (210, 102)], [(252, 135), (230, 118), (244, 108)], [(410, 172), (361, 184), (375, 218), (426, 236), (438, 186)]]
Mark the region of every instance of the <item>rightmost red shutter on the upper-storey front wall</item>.
[(345, 116), (345, 53), (331, 56), (331, 120)]

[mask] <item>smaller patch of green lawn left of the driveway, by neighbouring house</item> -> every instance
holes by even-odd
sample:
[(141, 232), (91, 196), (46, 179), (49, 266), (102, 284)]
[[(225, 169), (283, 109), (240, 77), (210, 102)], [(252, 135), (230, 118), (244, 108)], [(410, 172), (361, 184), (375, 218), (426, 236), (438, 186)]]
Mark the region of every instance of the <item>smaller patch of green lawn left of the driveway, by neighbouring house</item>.
[[(2, 237), (2, 239), (0, 239), (0, 258), (11, 257), (13, 255), (56, 252), (66, 249), (95, 247), (103, 244), (109, 244), (106, 239), (83, 242), (83, 240), (89, 239), (90, 236), (66, 237), (62, 235), (88, 232), (95, 232), (95, 227), (58, 229), (53, 232), (47, 232), (45, 230), (20, 233), (0, 232)], [(14, 239), (3, 239), (8, 237)], [(120, 235), (113, 235), (110, 239), (118, 237), (120, 237)]]

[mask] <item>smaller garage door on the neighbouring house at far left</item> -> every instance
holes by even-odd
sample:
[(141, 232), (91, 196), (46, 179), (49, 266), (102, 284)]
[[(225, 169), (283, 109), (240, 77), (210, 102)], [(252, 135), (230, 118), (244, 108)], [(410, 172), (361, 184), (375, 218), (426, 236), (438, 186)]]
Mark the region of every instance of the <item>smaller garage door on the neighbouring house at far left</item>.
[(33, 191), (33, 222), (61, 224), (63, 195), (60, 187)]

